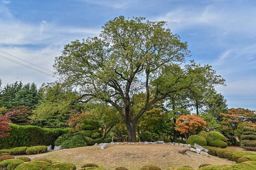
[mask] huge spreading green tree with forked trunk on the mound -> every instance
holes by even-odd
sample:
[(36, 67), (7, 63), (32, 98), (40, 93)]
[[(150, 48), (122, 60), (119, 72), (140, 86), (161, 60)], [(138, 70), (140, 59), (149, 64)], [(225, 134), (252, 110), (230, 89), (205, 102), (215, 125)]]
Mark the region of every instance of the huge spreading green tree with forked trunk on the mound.
[[(186, 42), (165, 28), (166, 22), (145, 18), (114, 18), (104, 24), (99, 37), (65, 45), (54, 67), (65, 85), (80, 89), (80, 102), (91, 99), (115, 107), (136, 141), (138, 119), (169, 94), (202, 81), (194, 63), (180, 66), (190, 55)], [(133, 96), (146, 92), (143, 105), (132, 109)]]

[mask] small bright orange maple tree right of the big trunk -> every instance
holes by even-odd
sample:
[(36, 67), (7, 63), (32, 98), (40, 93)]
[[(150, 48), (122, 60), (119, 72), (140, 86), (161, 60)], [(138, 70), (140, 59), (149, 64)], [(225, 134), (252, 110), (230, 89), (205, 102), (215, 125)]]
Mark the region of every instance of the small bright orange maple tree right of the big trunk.
[(184, 134), (185, 138), (188, 139), (188, 137), (195, 134), (196, 130), (200, 127), (206, 127), (206, 121), (204, 121), (204, 119), (195, 114), (182, 115), (177, 119), (175, 130)]

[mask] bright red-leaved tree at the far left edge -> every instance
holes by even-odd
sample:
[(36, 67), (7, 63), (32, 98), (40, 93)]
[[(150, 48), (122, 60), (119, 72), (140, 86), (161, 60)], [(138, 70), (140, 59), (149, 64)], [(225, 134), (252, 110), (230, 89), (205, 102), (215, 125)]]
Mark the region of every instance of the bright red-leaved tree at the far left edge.
[(6, 138), (10, 135), (10, 133), (8, 133), (10, 130), (10, 117), (15, 113), (16, 111), (12, 111), (6, 112), (5, 115), (0, 115), (0, 138)]

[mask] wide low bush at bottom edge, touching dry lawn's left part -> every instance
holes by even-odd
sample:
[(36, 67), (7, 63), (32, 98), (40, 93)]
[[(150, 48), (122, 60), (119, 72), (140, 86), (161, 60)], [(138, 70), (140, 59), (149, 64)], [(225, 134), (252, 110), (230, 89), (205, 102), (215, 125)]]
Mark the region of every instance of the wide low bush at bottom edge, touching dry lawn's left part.
[(75, 170), (76, 166), (68, 162), (56, 162), (52, 164), (46, 164), (42, 170)]

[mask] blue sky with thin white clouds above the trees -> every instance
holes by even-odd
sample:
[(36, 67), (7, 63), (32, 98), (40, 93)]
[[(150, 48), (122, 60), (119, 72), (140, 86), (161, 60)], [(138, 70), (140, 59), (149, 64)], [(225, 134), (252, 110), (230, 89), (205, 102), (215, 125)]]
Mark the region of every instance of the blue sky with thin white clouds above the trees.
[[(226, 79), (217, 89), (229, 107), (256, 110), (255, 0), (0, 0), (0, 50), (53, 71), (66, 43), (97, 36), (120, 15), (168, 21), (188, 42), (190, 59), (212, 65)], [(37, 85), (56, 80), (2, 58), (0, 78)]]

